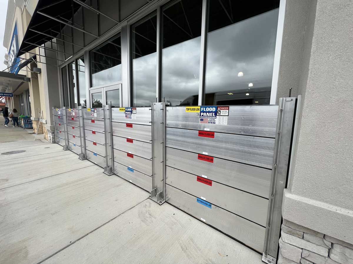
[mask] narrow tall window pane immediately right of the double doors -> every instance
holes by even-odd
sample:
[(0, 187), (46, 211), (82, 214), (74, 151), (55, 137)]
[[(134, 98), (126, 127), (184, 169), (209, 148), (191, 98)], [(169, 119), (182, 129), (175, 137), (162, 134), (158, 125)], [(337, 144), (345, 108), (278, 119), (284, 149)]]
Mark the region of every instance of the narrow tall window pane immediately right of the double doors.
[(131, 27), (132, 105), (150, 106), (156, 101), (157, 17), (144, 18)]

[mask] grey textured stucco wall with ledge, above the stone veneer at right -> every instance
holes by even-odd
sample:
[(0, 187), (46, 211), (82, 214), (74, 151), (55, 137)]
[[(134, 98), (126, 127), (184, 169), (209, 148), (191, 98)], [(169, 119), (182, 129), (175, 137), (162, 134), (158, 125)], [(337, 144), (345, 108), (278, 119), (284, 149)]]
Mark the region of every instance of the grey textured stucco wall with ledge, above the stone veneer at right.
[(282, 207), (283, 218), (349, 243), (353, 243), (352, 25), (353, 1), (317, 0), (307, 80), (301, 87), (304, 100), (293, 176)]

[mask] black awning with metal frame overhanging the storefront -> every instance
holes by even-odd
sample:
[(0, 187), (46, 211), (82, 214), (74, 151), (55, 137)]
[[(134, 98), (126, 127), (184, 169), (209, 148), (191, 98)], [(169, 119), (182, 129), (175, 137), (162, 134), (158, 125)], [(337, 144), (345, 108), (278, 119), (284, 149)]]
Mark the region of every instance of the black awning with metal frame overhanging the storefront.
[[(82, 25), (75, 23), (74, 15), (81, 7), (103, 15), (104, 17), (113, 20), (114, 23), (119, 24), (119, 21), (103, 14), (85, 2), (86, 1), (82, 0), (39, 0), (17, 52), (17, 57), (39, 46), (44, 49), (52, 50), (42, 46), (43, 44), (50, 42), (52, 39), (58, 39), (61, 42), (76, 45), (70, 42), (69, 38), (65, 38), (72, 36), (65, 36), (62, 33), (62, 29), (65, 26), (98, 38), (96, 34), (84, 30)], [(83, 48), (83, 46), (80, 47)]]

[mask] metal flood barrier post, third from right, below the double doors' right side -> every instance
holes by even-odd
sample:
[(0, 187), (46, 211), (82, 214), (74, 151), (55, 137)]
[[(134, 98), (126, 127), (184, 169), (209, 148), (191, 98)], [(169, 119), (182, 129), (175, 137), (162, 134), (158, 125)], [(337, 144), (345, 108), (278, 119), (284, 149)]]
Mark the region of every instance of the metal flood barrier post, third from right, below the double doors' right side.
[(104, 121), (104, 137), (106, 140), (106, 166), (104, 167), (104, 173), (107, 175), (114, 174), (113, 170), (113, 138), (112, 138), (112, 106), (103, 106), (103, 121)]

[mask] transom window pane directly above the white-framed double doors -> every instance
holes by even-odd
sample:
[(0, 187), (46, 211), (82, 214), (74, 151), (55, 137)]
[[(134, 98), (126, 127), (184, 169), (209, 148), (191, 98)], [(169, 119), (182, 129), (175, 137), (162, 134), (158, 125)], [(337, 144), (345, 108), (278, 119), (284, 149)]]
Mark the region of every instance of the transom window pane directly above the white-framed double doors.
[(90, 52), (92, 87), (121, 81), (121, 38), (116, 36)]

